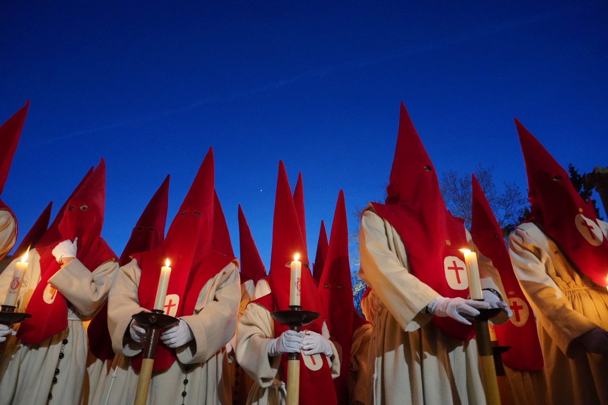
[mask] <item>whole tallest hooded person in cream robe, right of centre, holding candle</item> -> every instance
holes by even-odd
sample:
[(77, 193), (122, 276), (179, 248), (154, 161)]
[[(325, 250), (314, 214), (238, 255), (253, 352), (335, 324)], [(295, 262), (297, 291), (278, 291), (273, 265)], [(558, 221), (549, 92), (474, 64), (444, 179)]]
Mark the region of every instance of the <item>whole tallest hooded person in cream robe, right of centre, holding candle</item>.
[[(441, 199), (434, 166), (401, 104), (395, 158), (385, 204), (361, 218), (359, 277), (373, 301), (370, 404), (485, 404), (472, 326), (459, 313), (503, 308), (500, 278), (478, 254), (485, 302), (469, 293), (461, 248), (463, 220)], [(362, 305), (363, 306), (363, 305)], [(434, 316), (435, 315), (435, 316)], [(494, 322), (505, 322), (501, 311)]]

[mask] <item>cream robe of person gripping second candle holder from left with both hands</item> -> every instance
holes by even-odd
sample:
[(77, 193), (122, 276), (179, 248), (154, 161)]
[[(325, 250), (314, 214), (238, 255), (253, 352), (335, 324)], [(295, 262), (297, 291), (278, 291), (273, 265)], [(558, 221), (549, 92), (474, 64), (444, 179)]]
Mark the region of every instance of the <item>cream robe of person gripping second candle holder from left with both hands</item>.
[[(94, 403), (131, 405), (139, 372), (131, 367), (131, 356), (142, 352), (142, 344), (129, 333), (131, 316), (149, 310), (139, 306), (137, 286), (141, 271), (137, 260), (120, 268), (108, 302), (108, 326), (117, 356), (102, 394)], [(182, 316), (194, 339), (176, 349), (178, 359), (166, 370), (154, 372), (148, 393), (149, 405), (229, 405), (230, 375), (226, 344), (234, 335), (240, 301), (238, 260), (211, 277), (198, 296), (193, 315)], [(188, 380), (185, 384), (184, 381)]]

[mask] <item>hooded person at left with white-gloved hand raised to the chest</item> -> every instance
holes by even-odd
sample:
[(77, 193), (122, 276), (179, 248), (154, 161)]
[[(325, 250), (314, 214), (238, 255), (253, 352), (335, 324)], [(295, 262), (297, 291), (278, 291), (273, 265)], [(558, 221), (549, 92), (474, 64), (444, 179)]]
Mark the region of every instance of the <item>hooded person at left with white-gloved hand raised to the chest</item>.
[(29, 251), (18, 311), (32, 318), (13, 325), (17, 334), (0, 358), (0, 404), (80, 401), (88, 349), (83, 321), (102, 307), (119, 268), (100, 237), (105, 172), (102, 159)]

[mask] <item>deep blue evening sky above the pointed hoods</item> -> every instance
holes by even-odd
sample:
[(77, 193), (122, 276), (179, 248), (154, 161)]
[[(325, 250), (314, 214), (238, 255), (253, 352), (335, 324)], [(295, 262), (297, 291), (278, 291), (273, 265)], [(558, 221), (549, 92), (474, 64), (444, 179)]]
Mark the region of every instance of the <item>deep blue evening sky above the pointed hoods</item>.
[(562, 166), (606, 166), (608, 4), (534, 3), (4, 1), (0, 120), (31, 105), (2, 199), (21, 240), (104, 157), (120, 254), (213, 146), (235, 253), (240, 203), (268, 268), (278, 160), (303, 173), (312, 261), (340, 188), (348, 211), (382, 196), (399, 101), (440, 173), (481, 163), (525, 192), (513, 117)]

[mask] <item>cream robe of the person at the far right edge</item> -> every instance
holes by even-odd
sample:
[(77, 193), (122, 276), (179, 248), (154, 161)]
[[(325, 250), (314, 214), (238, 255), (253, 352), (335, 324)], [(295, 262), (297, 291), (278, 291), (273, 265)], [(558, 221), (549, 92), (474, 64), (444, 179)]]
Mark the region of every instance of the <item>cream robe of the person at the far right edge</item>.
[[(608, 235), (608, 224), (598, 222)], [(517, 226), (509, 237), (509, 251), (536, 313), (549, 403), (608, 404), (608, 355), (584, 353), (574, 342), (593, 328), (608, 329), (606, 287), (572, 268), (533, 223)]]

